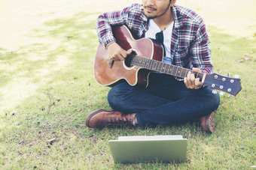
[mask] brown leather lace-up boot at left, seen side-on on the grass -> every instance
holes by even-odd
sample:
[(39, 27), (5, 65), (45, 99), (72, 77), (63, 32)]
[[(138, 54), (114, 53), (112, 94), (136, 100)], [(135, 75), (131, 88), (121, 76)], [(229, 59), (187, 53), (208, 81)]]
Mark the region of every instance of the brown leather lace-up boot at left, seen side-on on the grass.
[(123, 115), (121, 112), (98, 109), (87, 115), (85, 124), (96, 129), (108, 126), (133, 126), (134, 119), (135, 114)]

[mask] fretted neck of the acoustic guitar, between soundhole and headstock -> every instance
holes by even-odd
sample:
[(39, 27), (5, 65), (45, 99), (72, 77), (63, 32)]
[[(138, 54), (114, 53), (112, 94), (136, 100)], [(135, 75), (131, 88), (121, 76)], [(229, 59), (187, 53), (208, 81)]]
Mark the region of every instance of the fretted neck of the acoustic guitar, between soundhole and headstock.
[[(131, 65), (136, 65), (138, 67), (143, 67), (148, 70), (154, 70), (160, 73), (166, 73), (171, 76), (178, 76), (184, 78), (187, 76), (189, 70), (187, 68), (178, 67), (172, 64), (166, 64), (162, 61), (156, 61), (149, 58), (139, 57), (139, 56), (128, 56), (128, 60), (130, 60)], [(131, 58), (131, 59), (130, 59)], [(193, 73), (193, 72), (192, 72)], [(194, 73), (196, 77), (203, 79), (203, 73)]]

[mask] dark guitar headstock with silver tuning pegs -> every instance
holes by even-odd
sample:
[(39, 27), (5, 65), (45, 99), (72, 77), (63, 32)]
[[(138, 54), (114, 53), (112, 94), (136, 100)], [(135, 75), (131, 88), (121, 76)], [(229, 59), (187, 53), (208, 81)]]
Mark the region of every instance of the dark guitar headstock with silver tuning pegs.
[(221, 76), (216, 73), (207, 74), (204, 83), (210, 88), (225, 91), (233, 96), (236, 96), (242, 89), (240, 79)]

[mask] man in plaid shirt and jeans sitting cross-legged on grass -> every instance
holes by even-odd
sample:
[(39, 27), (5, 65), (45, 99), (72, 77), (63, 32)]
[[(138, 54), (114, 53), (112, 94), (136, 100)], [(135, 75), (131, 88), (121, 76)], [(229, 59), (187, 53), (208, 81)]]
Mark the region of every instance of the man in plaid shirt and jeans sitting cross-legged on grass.
[[(112, 25), (126, 25), (139, 38), (163, 36), (163, 62), (189, 68), (194, 73), (212, 73), (212, 58), (206, 25), (197, 13), (175, 5), (175, 0), (142, 0), (120, 11), (103, 13), (97, 19), (99, 42), (108, 49), (114, 62), (121, 62), (130, 52), (113, 37)], [(112, 111), (98, 109), (87, 116), (86, 125), (103, 128), (130, 125), (145, 128), (151, 124), (175, 124), (200, 118), (207, 132), (215, 130), (213, 111), (220, 98), (204, 87), (194, 73), (180, 79), (163, 73), (151, 73), (147, 88), (123, 82), (108, 93)], [(183, 80), (183, 81), (182, 81)]]

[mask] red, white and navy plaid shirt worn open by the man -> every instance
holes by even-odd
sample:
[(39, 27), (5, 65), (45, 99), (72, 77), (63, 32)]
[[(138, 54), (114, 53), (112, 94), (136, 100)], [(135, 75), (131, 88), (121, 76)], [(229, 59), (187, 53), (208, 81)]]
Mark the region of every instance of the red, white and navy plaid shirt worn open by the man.
[[(212, 73), (213, 65), (209, 49), (209, 34), (203, 19), (185, 7), (174, 5), (174, 26), (172, 29), (172, 64), (192, 69), (198, 67), (203, 73)], [(126, 25), (139, 38), (148, 31), (148, 18), (142, 4), (132, 4), (123, 10), (102, 13), (96, 21), (99, 42), (105, 45), (115, 41), (111, 25)], [(176, 78), (182, 80), (180, 78)]]

